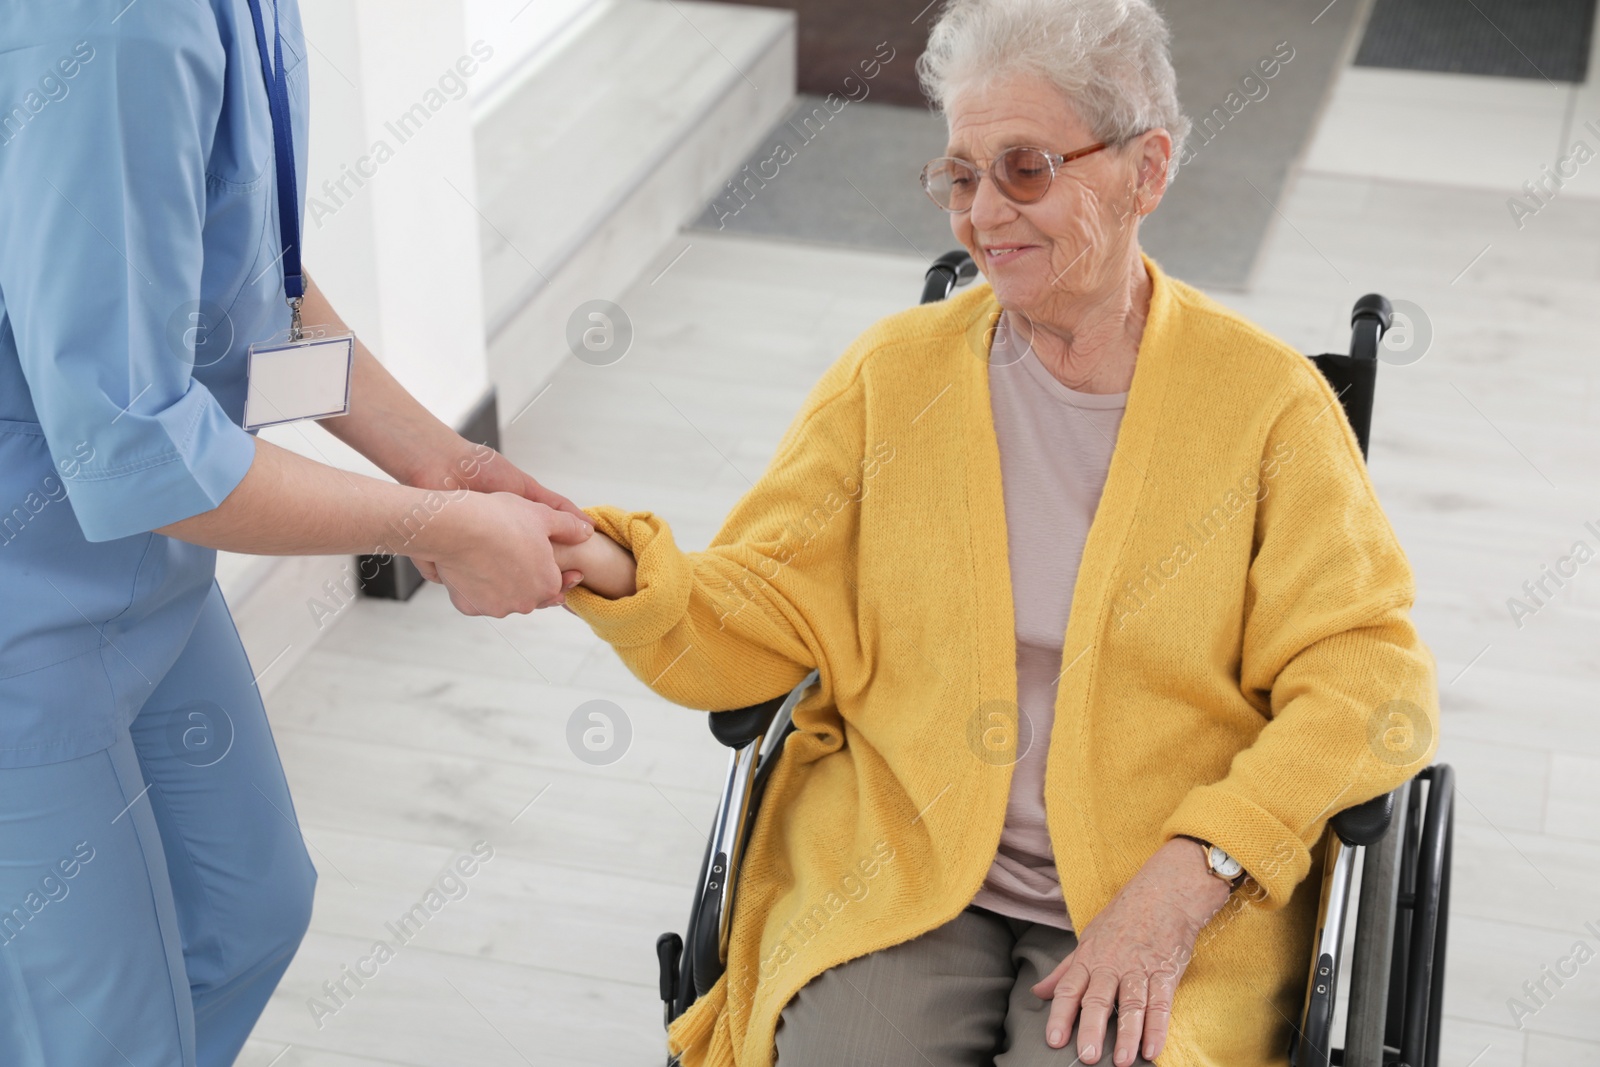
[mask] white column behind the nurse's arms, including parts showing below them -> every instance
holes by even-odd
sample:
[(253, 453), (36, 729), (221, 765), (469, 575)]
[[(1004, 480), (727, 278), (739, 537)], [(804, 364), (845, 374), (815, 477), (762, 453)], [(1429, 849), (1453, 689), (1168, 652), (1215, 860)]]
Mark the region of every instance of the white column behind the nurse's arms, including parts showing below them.
[[(498, 56), (488, 45), (474, 51), (464, 0), (302, 0), (301, 18), (310, 64), (306, 269), (389, 371), (459, 427), (490, 387), (467, 91)], [(262, 437), (379, 474), (315, 424)], [(352, 563), (219, 553), (218, 577), (264, 693), (346, 617)]]

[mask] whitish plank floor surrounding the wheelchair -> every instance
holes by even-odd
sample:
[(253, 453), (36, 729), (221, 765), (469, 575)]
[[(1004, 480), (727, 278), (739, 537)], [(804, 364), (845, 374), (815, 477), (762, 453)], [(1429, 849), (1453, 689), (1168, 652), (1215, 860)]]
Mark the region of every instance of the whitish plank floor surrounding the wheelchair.
[[(1424, 358), (1382, 368), (1371, 475), (1418, 573), (1459, 774), (1440, 1062), (1578, 1067), (1600, 1064), (1600, 961), (1523, 1029), (1507, 998), (1576, 941), (1597, 947), (1600, 565), (1522, 629), (1506, 600), (1600, 541), (1584, 530), (1600, 525), (1600, 203), (1563, 197), (1517, 230), (1506, 195), (1306, 174), (1261, 283), (1224, 299), (1306, 350), (1342, 347), (1370, 290), (1430, 325)], [(694, 234), (643, 277), (685, 248), (621, 301), (634, 350), (563, 363), (507, 451), (699, 545), (821, 370), (915, 298), (922, 264)], [(589, 699), (632, 725), (611, 766), (566, 747)], [(653, 941), (682, 926), (723, 766), (701, 715), (566, 613), (464, 619), (435, 587), (357, 605), (270, 712), (322, 881), (245, 1064), (659, 1062)], [(318, 1027), (307, 998), (478, 840), (494, 859), (467, 897)]]

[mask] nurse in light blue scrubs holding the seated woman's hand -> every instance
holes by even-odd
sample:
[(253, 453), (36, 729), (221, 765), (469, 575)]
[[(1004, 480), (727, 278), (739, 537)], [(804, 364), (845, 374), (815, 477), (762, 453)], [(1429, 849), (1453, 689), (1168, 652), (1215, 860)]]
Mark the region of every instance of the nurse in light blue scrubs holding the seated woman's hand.
[(298, 262), (304, 58), (293, 0), (0, 0), (6, 1067), (232, 1064), (306, 931), (218, 549), (403, 552), (469, 614), (578, 581), (578, 509), (360, 344), (325, 426), (398, 485), (242, 429), (290, 298), (344, 330)]

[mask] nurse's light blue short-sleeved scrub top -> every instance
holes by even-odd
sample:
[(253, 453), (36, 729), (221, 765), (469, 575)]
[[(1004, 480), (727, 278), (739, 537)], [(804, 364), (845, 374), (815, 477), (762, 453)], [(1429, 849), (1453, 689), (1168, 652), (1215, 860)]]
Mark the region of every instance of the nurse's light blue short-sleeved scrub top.
[(0, 0), (0, 766), (27, 766), (110, 745), (189, 640), (216, 553), (150, 531), (245, 477), (245, 350), (288, 309), (245, 0)]

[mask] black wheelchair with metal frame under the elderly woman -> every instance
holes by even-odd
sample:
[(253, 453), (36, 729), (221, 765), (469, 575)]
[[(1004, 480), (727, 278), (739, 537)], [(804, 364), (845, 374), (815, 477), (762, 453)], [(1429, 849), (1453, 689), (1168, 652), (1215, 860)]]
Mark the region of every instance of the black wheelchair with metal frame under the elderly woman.
[[(922, 302), (946, 299), (976, 274), (966, 251), (939, 256), (926, 270)], [(1363, 296), (1350, 318), (1350, 354), (1310, 357), (1338, 394), (1363, 459), (1378, 346), (1392, 314), (1382, 296)], [(726, 966), (744, 846), (766, 781), (794, 731), (790, 713), (814, 681), (811, 672), (786, 696), (709, 715), (712, 736), (731, 750), (728, 779), (685, 934), (669, 931), (656, 939), (667, 1025), (706, 995)], [(1293, 1067), (1438, 1067), (1454, 792), (1454, 773), (1437, 763), (1392, 793), (1328, 821), (1330, 830), (1317, 846), (1325, 853), (1323, 883), (1304, 1009), (1286, 1049)], [(1352, 920), (1350, 889), (1363, 853)], [(1354, 926), (1349, 953), (1347, 925)], [(1334, 1048), (1341, 989), (1349, 993), (1349, 1008), (1344, 1045)], [(669, 1057), (667, 1067), (674, 1064)]]

